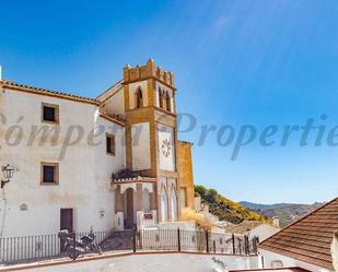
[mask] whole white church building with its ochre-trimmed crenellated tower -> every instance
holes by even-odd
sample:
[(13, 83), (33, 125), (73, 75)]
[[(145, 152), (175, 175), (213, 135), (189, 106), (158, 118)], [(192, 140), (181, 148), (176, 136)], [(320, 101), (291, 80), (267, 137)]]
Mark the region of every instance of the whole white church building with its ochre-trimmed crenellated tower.
[(1, 236), (179, 221), (194, 178), (176, 92), (151, 59), (94, 99), (0, 78), (0, 166), (14, 169), (0, 189)]

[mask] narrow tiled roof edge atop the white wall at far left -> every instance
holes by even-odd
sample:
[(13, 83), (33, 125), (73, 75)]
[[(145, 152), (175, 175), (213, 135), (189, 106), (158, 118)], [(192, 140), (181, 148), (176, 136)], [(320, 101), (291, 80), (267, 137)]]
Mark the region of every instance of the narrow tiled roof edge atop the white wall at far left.
[(57, 91), (50, 91), (50, 90), (46, 90), (42, 87), (28, 86), (28, 85), (19, 84), (19, 83), (9, 81), (9, 80), (0, 80), (0, 84), (2, 84), (3, 87), (16, 90), (16, 91), (23, 91), (23, 92), (40, 94), (40, 95), (56, 96), (60, 98), (100, 105), (100, 102), (93, 98), (88, 98), (84, 96), (79, 96), (79, 95), (73, 95), (73, 94), (68, 94), (68, 93), (61, 93)]

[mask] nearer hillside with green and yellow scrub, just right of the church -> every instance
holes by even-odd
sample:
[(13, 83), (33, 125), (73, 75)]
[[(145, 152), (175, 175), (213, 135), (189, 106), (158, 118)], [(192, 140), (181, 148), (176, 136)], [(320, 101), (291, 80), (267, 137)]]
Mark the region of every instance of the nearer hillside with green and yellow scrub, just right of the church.
[(238, 224), (244, 220), (270, 223), (261, 214), (247, 210), (241, 204), (219, 194), (214, 189), (195, 186), (195, 193), (200, 196), (202, 203), (209, 205), (210, 213), (217, 215), (221, 221), (228, 221), (233, 224)]

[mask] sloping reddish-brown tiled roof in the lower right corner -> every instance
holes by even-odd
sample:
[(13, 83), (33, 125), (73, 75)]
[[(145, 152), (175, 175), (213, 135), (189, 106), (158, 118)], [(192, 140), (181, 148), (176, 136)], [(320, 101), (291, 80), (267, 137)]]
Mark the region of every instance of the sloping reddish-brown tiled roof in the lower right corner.
[(266, 239), (259, 248), (334, 270), (330, 244), (337, 229), (338, 198)]

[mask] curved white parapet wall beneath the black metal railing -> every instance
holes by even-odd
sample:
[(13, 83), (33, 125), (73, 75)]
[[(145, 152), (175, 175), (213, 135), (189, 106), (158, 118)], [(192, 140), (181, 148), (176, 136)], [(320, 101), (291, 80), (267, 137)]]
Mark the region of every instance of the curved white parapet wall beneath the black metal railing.
[[(234, 257), (225, 255), (199, 253), (136, 253), (125, 256), (79, 259), (67, 263), (32, 264), (31, 268), (18, 265), (4, 271), (22, 272), (206, 272), (257, 269), (258, 257)], [(1, 271), (1, 269), (0, 269)]]

